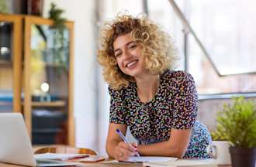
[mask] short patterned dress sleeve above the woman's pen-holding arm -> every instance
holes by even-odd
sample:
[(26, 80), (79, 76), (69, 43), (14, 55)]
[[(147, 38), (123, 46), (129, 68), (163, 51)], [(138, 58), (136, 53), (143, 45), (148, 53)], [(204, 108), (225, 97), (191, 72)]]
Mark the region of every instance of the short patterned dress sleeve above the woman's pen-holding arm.
[(116, 124), (126, 124), (126, 109), (123, 101), (123, 91), (113, 90), (109, 87), (110, 113), (109, 122)]

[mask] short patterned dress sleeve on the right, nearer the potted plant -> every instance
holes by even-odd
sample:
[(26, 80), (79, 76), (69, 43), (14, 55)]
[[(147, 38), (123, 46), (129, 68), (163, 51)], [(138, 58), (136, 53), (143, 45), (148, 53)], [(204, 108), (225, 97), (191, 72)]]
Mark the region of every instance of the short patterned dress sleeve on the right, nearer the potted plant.
[(179, 73), (174, 96), (172, 128), (189, 129), (195, 124), (198, 108), (198, 94), (195, 81), (189, 73)]

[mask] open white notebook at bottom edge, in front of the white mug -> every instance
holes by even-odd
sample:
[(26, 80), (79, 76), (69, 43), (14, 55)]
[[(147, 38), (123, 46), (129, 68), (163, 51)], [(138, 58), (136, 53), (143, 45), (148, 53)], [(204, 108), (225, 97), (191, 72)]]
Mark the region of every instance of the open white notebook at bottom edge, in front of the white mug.
[(167, 162), (144, 162), (143, 165), (150, 167), (218, 167), (213, 159), (178, 159)]

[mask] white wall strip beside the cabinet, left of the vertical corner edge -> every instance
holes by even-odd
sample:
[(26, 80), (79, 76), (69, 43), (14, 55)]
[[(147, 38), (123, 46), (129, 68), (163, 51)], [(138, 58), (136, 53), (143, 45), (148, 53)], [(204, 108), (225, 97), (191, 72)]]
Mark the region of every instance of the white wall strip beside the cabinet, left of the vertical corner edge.
[(64, 9), (64, 17), (74, 21), (74, 118), (77, 147), (97, 150), (95, 83), (95, 1), (44, 0), (47, 17), (50, 2)]

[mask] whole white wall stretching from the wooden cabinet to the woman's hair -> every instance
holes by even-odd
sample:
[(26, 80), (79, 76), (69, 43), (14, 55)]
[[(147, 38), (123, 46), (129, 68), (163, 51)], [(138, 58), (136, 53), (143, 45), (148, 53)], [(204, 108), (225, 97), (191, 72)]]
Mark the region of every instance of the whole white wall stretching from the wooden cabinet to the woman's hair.
[[(112, 19), (120, 10), (131, 15), (142, 12), (142, 1), (131, 0), (44, 0), (43, 16), (50, 3), (64, 9), (64, 17), (74, 21), (74, 118), (76, 146), (92, 148), (106, 155), (106, 135), (109, 124), (109, 96), (96, 62), (96, 16), (99, 25)], [(97, 2), (99, 3), (98, 6)], [(134, 4), (137, 4), (134, 6)], [(97, 11), (97, 7), (99, 10)], [(133, 138), (130, 138), (131, 140)]]

